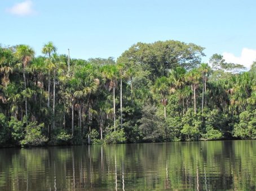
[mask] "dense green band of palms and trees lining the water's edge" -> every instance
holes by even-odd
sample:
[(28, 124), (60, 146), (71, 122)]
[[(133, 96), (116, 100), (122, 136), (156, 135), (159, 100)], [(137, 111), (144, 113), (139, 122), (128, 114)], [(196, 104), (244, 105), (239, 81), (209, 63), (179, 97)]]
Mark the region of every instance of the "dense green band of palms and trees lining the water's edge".
[(0, 46), (0, 147), (256, 139), (251, 69), (175, 40), (115, 61)]

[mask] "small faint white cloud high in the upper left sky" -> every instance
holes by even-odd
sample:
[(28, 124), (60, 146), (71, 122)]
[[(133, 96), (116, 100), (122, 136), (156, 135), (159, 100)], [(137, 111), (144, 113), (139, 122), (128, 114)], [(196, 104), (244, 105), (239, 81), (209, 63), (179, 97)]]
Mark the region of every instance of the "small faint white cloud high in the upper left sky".
[(11, 8), (7, 8), (7, 12), (13, 15), (26, 16), (32, 15), (36, 11), (33, 10), (33, 2), (25, 0), (24, 2), (14, 4)]

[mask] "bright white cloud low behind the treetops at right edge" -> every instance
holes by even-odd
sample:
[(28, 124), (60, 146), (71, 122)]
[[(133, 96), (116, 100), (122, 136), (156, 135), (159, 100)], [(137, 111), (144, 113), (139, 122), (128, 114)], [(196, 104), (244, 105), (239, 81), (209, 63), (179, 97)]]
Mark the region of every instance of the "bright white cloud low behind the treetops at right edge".
[(241, 56), (237, 57), (232, 53), (224, 52), (222, 54), (223, 58), (226, 62), (229, 63), (239, 63), (244, 65), (247, 69), (250, 69), (251, 64), (256, 61), (256, 50), (243, 48), (241, 52)]

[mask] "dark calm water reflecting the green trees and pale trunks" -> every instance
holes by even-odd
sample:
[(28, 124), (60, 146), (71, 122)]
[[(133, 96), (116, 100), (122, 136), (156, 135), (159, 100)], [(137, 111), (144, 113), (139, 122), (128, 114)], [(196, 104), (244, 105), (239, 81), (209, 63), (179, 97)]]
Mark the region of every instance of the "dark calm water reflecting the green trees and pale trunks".
[(256, 141), (0, 149), (0, 190), (255, 190)]

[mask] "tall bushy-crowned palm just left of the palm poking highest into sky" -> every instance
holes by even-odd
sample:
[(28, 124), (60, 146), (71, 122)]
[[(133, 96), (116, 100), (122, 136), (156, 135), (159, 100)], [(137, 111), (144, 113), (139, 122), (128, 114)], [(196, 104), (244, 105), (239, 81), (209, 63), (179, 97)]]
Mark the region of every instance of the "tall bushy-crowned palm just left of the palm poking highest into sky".
[[(34, 57), (34, 50), (31, 47), (29, 47), (28, 45), (20, 44), (19, 46), (16, 47), (15, 54), (16, 54), (17, 58), (22, 62), (24, 88), (26, 89), (27, 83), (26, 83), (25, 69), (26, 69), (28, 63)], [(27, 116), (28, 115), (27, 97), (25, 97), (25, 113)]]

